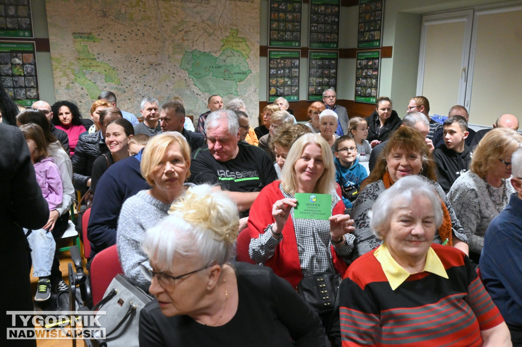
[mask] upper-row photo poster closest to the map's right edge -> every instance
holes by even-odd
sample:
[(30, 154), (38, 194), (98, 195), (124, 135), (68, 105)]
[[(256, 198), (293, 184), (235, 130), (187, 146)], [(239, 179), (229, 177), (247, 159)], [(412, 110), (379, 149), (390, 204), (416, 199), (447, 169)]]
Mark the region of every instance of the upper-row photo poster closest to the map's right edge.
[(301, 47), (302, 0), (270, 0), (268, 45)]

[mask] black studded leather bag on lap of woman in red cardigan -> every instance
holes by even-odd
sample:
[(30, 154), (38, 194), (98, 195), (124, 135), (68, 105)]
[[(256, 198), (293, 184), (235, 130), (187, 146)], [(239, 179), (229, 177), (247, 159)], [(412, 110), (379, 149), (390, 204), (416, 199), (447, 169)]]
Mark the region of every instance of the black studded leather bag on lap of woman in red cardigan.
[(341, 281), (341, 276), (334, 272), (306, 276), (299, 282), (297, 291), (314, 311), (323, 315), (335, 308)]

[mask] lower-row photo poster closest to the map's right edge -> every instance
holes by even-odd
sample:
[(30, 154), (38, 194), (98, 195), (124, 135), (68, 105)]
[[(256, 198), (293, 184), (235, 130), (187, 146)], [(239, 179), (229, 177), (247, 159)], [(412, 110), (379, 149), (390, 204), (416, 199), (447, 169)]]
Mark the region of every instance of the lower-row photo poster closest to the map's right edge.
[(301, 52), (268, 50), (268, 101), (299, 101)]

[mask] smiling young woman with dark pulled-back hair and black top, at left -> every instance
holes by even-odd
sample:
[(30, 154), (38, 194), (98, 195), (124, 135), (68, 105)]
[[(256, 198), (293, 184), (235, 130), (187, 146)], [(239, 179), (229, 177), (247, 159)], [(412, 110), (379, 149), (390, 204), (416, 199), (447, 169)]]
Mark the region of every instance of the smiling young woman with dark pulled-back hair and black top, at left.
[(116, 118), (108, 123), (104, 136), (110, 154), (102, 153), (92, 164), (92, 193), (96, 190), (96, 184), (103, 172), (118, 160), (129, 156), (129, 140), (134, 136), (134, 127), (125, 118)]

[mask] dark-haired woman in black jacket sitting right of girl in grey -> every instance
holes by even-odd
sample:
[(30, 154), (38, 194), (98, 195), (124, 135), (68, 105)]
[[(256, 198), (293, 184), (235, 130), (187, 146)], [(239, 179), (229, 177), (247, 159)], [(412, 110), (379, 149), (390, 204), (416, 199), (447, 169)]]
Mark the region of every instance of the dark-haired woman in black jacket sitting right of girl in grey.
[(366, 117), (368, 123), (368, 137), (366, 140), (370, 145), (375, 145), (388, 140), (390, 135), (400, 127), (400, 118), (396, 111), (392, 109), (392, 101), (387, 96), (377, 99), (375, 111)]

